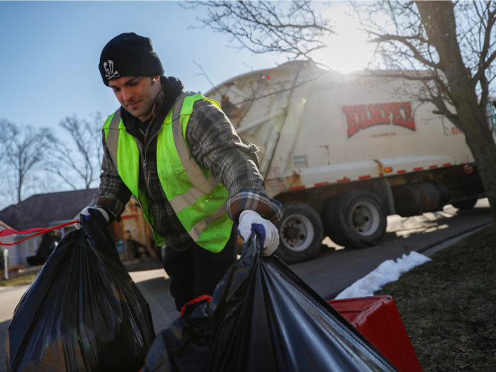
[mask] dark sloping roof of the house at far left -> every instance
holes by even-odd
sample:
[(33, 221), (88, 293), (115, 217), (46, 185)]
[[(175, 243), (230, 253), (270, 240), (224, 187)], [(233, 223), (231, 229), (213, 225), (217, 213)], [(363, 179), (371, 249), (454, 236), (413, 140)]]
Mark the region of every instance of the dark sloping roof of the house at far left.
[(0, 220), (15, 230), (50, 227), (52, 222), (72, 220), (91, 203), (98, 188), (40, 193), (0, 210)]

